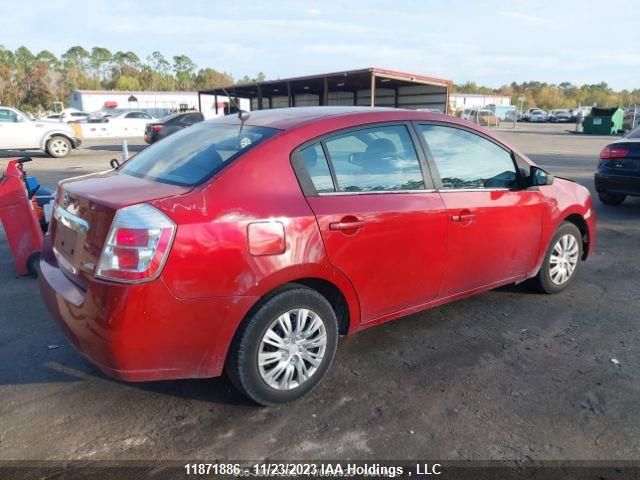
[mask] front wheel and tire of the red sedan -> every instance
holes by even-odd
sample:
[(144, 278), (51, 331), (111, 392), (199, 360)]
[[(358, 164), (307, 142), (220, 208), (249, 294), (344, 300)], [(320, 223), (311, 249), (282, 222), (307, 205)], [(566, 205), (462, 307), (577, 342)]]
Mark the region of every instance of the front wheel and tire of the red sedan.
[(569, 286), (580, 268), (582, 234), (573, 223), (563, 222), (554, 234), (538, 275), (532, 281), (542, 293), (559, 293)]

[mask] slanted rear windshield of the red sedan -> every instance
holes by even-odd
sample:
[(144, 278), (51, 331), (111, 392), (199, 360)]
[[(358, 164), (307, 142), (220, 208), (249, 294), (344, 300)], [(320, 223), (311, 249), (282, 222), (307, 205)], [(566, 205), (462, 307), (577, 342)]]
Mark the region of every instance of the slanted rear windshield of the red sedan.
[(194, 186), (278, 130), (199, 123), (147, 147), (119, 171), (173, 185)]

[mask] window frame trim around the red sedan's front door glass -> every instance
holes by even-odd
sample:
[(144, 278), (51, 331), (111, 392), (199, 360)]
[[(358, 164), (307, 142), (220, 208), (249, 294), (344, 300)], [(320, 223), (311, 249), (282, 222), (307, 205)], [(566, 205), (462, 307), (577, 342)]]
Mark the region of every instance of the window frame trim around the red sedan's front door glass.
[[(521, 191), (521, 190), (526, 190), (527, 189), (527, 179), (526, 177), (523, 175), (522, 170), (520, 169), (518, 162), (516, 161), (516, 154), (513, 150), (511, 150), (509, 147), (507, 147), (506, 145), (500, 143), (499, 141), (497, 141), (496, 139), (486, 135), (484, 132), (480, 132), (478, 130), (474, 130), (473, 128), (469, 128), (466, 125), (459, 125), (457, 123), (451, 123), (451, 122), (442, 122), (442, 121), (437, 121), (437, 120), (414, 120), (411, 122), (413, 125), (413, 128), (416, 131), (416, 134), (418, 135), (418, 141), (420, 142), (420, 146), (421, 148), (424, 150), (424, 154), (427, 158), (427, 164), (429, 166), (429, 169), (431, 170), (431, 177), (433, 178), (433, 184), (435, 186), (435, 190), (440, 192), (440, 193), (445, 193), (445, 192), (493, 192), (493, 191)], [(422, 134), (422, 132), (420, 132), (420, 125), (436, 125), (436, 126), (441, 126), (441, 127), (449, 127), (449, 128), (455, 128), (458, 130), (463, 130), (465, 132), (469, 132), (472, 133), (474, 135), (477, 135), (481, 138), (484, 138), (485, 140), (488, 140), (489, 142), (493, 143), (494, 145), (500, 147), (502, 150), (504, 150), (505, 152), (507, 152), (509, 154), (509, 156), (511, 157), (511, 162), (513, 163), (513, 168), (516, 172), (516, 180), (517, 180), (517, 187), (514, 188), (506, 188), (506, 187), (495, 187), (495, 188), (443, 188), (442, 186), (442, 179), (440, 178), (440, 171), (438, 170), (438, 166), (436, 165), (435, 159), (433, 157), (433, 154), (431, 153), (431, 149), (429, 148), (429, 145), (427, 144), (427, 140), (424, 138), (424, 135)]]

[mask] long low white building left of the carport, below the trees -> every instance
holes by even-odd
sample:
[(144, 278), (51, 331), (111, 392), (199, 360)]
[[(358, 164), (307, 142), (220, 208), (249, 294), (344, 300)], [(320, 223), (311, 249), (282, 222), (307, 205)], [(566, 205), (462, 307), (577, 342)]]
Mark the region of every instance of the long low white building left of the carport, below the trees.
[[(197, 92), (74, 90), (69, 95), (68, 106), (85, 112), (111, 115), (136, 110), (158, 118), (186, 110), (201, 110), (205, 118), (212, 118), (230, 110), (229, 99), (224, 95), (218, 96), (217, 105), (213, 105), (213, 98), (203, 99), (202, 102), (198, 100)], [(248, 108), (248, 102), (244, 108)]]

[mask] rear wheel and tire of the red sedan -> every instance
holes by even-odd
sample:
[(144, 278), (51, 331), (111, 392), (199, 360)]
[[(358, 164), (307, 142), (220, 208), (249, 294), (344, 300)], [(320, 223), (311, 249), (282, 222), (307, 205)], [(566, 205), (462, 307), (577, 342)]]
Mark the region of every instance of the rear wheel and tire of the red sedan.
[(294, 287), (262, 304), (238, 331), (227, 359), (232, 383), (258, 404), (296, 400), (329, 370), (338, 345), (331, 304)]

